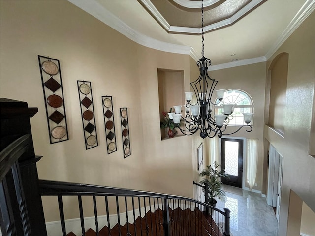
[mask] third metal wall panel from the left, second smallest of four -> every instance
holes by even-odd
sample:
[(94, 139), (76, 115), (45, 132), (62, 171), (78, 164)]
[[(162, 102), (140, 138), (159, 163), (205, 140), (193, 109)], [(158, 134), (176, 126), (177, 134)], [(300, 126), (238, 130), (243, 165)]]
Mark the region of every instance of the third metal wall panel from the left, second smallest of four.
[(111, 96), (102, 96), (107, 154), (117, 151), (116, 133), (113, 111), (113, 99)]

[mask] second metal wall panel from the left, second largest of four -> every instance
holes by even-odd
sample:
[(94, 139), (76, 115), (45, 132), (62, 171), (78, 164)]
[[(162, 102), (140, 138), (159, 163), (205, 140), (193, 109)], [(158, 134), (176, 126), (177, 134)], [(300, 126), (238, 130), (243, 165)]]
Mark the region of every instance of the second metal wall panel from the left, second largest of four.
[(98, 146), (91, 82), (78, 80), (85, 148)]

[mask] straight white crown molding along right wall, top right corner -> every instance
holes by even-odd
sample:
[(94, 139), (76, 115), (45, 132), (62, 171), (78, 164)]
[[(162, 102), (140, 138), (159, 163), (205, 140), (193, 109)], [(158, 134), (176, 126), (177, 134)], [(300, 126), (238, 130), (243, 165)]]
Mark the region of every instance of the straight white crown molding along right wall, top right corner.
[(315, 1), (307, 0), (301, 7), (299, 12), (294, 16), (290, 24), (284, 29), (276, 43), (266, 53), (266, 59), (270, 59), (272, 55), (280, 48), (284, 41), (297, 29), (302, 22), (314, 11)]

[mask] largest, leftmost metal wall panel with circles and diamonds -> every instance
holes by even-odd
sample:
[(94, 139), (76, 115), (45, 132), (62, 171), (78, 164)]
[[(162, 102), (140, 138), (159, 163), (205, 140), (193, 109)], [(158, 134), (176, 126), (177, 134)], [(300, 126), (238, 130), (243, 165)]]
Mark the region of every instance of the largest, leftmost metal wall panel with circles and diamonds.
[(50, 143), (69, 140), (59, 60), (38, 55), (38, 62)]

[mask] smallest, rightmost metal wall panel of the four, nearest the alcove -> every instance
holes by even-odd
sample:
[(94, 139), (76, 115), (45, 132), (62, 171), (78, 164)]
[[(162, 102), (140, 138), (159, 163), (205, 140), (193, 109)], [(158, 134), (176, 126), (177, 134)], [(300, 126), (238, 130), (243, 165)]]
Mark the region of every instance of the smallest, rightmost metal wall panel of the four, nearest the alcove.
[(124, 158), (131, 155), (130, 136), (129, 136), (129, 121), (128, 109), (126, 107), (120, 108), (120, 118), (122, 121), (122, 137), (123, 137), (123, 152)]

